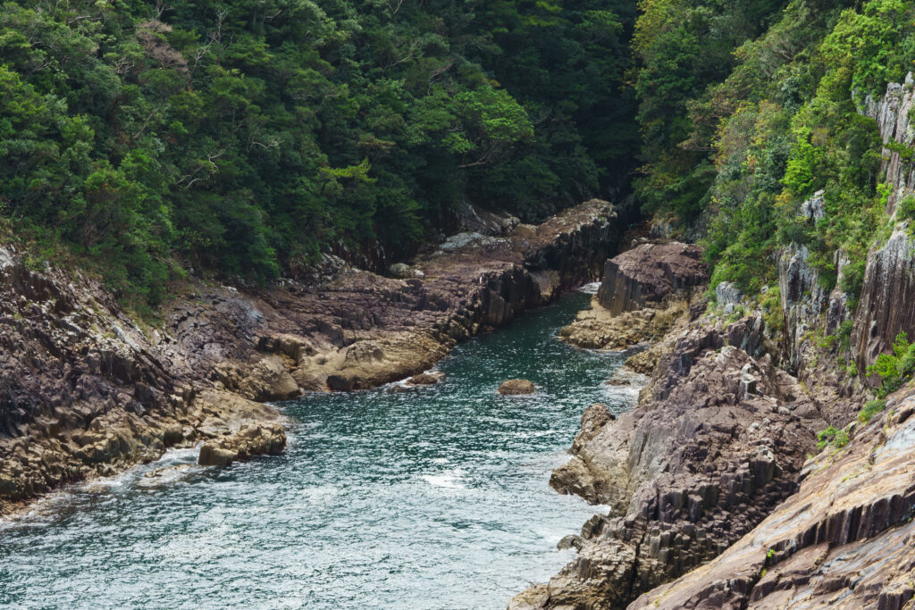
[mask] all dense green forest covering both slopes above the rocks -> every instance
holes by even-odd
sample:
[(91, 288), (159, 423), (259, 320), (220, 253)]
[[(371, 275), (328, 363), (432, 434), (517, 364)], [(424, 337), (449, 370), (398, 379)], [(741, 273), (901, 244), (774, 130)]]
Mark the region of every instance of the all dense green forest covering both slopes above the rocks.
[[(393, 258), (466, 202), (634, 194), (713, 283), (826, 281), (886, 232), (867, 95), (915, 68), (903, 0), (34, 0), (0, 12), (0, 217), (126, 302), (321, 252)], [(824, 190), (825, 223), (800, 204)], [(915, 206), (910, 206), (915, 209)], [(903, 207), (905, 208), (905, 206)], [(903, 213), (905, 209), (903, 209)]]

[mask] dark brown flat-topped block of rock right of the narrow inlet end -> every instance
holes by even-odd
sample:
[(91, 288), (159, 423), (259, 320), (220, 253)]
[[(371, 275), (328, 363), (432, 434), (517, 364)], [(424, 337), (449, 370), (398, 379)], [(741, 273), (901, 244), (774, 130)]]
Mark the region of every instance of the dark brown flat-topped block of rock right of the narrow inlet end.
[[(641, 244), (604, 265), (597, 300), (613, 316), (686, 293), (708, 280), (702, 249), (679, 241)], [(681, 294), (681, 296), (683, 296)]]

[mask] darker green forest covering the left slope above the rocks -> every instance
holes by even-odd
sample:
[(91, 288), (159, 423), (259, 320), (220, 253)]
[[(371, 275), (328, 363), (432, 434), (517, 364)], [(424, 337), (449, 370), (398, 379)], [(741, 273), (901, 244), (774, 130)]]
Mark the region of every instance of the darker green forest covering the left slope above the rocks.
[[(155, 304), (403, 256), (463, 202), (542, 218), (626, 188), (621, 0), (64, 0), (0, 12), (0, 213)], [(622, 127), (620, 128), (620, 125)]]

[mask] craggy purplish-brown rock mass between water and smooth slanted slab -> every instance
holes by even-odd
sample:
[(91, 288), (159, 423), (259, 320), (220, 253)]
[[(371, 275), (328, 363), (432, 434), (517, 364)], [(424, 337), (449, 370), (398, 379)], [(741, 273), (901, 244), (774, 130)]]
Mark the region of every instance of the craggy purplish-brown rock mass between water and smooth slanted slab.
[(756, 358), (761, 341), (759, 316), (699, 324), (662, 359), (648, 400), (616, 421), (589, 410), (551, 485), (611, 511), (583, 528), (574, 562), (513, 607), (625, 607), (716, 557), (791, 495), (824, 424), (795, 380)]

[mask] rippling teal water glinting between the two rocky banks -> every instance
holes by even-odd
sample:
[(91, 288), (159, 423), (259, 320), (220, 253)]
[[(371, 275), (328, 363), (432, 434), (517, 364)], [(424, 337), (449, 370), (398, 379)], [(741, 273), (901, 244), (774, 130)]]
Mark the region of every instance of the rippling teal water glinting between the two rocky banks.
[[(555, 340), (587, 298), (458, 346), (434, 388), (285, 403), (284, 455), (173, 451), (51, 496), (0, 524), (0, 605), (504, 608), (601, 509), (547, 487), (585, 407), (627, 400), (619, 355)], [(537, 394), (498, 396), (514, 377)]]

